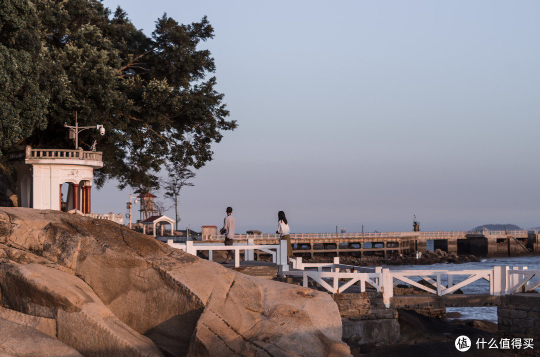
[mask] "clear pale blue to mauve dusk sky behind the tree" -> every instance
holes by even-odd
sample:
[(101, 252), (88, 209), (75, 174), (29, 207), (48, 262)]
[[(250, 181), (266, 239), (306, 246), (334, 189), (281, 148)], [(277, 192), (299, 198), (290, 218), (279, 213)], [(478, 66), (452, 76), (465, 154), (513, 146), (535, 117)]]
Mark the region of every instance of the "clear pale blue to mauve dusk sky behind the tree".
[[(540, 2), (103, 4), (147, 36), (164, 13), (214, 28), (200, 48), (238, 128), (181, 190), (179, 229), (227, 206), (237, 234), (280, 210), (293, 233), (540, 226)], [(126, 214), (116, 185), (92, 211)]]

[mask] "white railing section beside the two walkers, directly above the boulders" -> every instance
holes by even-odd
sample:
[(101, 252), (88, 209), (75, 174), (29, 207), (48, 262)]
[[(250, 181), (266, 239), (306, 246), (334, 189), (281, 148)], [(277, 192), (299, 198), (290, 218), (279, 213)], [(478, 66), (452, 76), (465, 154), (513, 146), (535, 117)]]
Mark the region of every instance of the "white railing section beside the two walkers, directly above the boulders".
[(225, 243), (194, 243), (187, 241), (186, 243), (173, 243), (172, 239), (167, 240), (167, 244), (173, 248), (181, 249), (186, 253), (196, 256), (198, 251), (207, 251), (208, 260), (213, 260), (214, 250), (233, 250), (234, 251), (234, 267), (240, 266), (240, 251), (244, 251), (244, 260), (254, 260), (254, 252), (261, 251), (272, 256), (272, 263), (281, 266), (281, 271), (288, 271), (287, 258), (287, 242), (280, 241), (279, 244), (255, 244), (253, 239), (248, 239), (247, 244), (234, 243), (233, 245), (225, 245)]

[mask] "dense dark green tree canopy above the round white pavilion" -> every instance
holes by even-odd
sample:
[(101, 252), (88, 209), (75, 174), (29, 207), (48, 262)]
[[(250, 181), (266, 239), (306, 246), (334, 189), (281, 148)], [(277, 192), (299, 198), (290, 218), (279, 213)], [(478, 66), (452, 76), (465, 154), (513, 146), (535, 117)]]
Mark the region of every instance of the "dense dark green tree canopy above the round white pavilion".
[(98, 187), (159, 187), (165, 162), (199, 168), (211, 144), (237, 123), (215, 91), (214, 36), (204, 17), (184, 25), (157, 19), (151, 37), (120, 8), (97, 0), (6, 0), (0, 8), (0, 149), (73, 148), (64, 123), (103, 124)]

